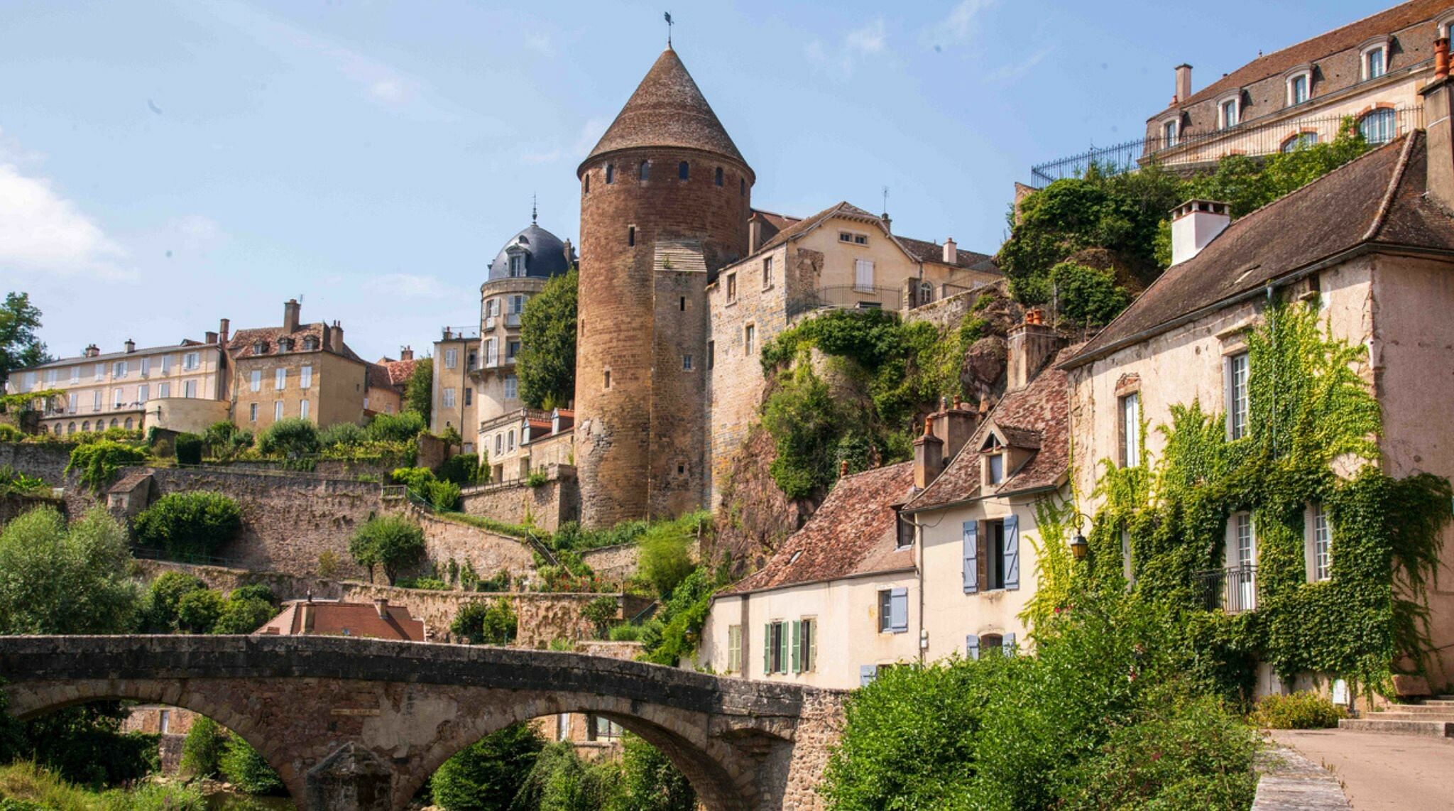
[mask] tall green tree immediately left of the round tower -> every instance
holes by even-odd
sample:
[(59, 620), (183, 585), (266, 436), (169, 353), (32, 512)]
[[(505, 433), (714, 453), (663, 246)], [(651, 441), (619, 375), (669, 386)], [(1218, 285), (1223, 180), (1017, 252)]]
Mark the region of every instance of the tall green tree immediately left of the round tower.
[(577, 273), (545, 282), (521, 314), (521, 353), (515, 372), (521, 400), (531, 408), (558, 408), (576, 397)]

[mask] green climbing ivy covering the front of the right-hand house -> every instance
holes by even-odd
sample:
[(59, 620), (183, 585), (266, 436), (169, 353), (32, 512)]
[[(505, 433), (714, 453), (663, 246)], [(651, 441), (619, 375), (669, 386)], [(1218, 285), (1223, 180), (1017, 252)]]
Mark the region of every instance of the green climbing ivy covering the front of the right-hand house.
[[(1184, 645), (1188, 671), (1224, 695), (1248, 695), (1255, 660), (1282, 677), (1335, 674), (1387, 692), (1399, 657), (1423, 669), (1450, 483), (1380, 469), (1367, 349), (1332, 337), (1316, 310), (1275, 304), (1246, 343), (1248, 436), (1227, 439), (1224, 417), (1192, 401), (1157, 426), (1166, 449), (1154, 464), (1102, 461), (1086, 574), (1121, 578), (1127, 533), (1136, 594), (1178, 612), (1169, 639)], [(1322, 504), (1332, 529), (1326, 581), (1306, 571), (1309, 504)], [(1227, 517), (1243, 510), (1256, 528), (1258, 609), (1207, 610), (1197, 576), (1221, 568)]]

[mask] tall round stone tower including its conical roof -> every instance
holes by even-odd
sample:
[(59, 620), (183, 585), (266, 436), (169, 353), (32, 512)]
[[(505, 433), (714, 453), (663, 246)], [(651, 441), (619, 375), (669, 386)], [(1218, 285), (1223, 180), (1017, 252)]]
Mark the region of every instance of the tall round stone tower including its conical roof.
[(667, 48), (576, 176), (580, 520), (699, 509), (705, 289), (747, 254), (752, 169)]

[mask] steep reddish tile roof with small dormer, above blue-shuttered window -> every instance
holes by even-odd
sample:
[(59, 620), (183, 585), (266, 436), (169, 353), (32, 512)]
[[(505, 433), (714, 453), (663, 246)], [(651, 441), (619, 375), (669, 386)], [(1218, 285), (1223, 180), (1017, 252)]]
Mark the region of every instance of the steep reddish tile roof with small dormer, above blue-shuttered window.
[[(1063, 349), (1056, 360), (1069, 356)], [(976, 497), (1008, 496), (1056, 487), (1070, 468), (1070, 397), (1066, 372), (1051, 362), (1025, 388), (1006, 392), (989, 413), (964, 449), (904, 507), (909, 512), (957, 504)], [(996, 432), (1011, 448), (1031, 449), (1029, 461), (1009, 471), (999, 487), (986, 488), (980, 449)]]

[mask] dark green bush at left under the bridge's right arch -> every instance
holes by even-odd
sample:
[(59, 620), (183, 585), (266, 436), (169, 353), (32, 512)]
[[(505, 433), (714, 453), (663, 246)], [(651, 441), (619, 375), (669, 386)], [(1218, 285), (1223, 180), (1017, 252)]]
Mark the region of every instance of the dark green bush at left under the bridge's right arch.
[(534, 724), (512, 724), (480, 738), (429, 779), (435, 804), (448, 811), (507, 810), (544, 747)]

